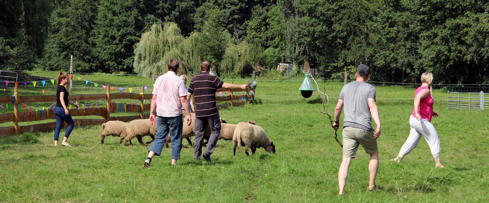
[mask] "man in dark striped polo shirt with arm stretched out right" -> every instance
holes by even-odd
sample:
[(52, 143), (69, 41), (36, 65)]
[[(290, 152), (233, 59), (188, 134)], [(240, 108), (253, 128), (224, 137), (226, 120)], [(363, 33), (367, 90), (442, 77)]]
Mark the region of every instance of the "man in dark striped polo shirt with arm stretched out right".
[[(215, 91), (219, 88), (225, 89), (242, 89), (245, 90), (248, 85), (235, 85), (221, 81), (217, 76), (210, 75), (209, 61), (202, 61), (200, 64), (199, 75), (196, 75), (188, 86), (187, 99), (194, 94), (195, 101), (195, 142), (194, 142), (194, 159), (200, 159), (200, 156), (211, 161), (210, 155), (214, 152), (215, 145), (218, 143), (219, 134), (221, 133), (221, 121), (219, 120), (218, 108), (215, 106)], [(207, 148), (202, 154), (203, 137), (207, 126), (210, 126), (210, 138)]]

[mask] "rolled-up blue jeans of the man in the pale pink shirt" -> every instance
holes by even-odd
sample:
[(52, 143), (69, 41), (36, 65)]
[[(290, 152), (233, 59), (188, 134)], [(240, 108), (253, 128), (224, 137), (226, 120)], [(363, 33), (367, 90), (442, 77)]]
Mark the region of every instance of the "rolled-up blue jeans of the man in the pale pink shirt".
[(182, 115), (175, 117), (156, 116), (156, 136), (149, 151), (153, 151), (159, 156), (167, 140), (168, 132), (172, 139), (172, 159), (180, 159), (180, 150), (182, 149)]

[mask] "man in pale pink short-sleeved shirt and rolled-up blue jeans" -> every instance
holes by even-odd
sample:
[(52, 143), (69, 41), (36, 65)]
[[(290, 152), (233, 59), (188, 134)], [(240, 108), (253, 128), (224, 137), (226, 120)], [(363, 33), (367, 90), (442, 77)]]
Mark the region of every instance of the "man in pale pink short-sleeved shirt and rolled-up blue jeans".
[[(170, 59), (167, 67), (167, 74), (158, 77), (154, 84), (149, 121), (152, 125), (156, 121), (156, 136), (149, 148), (148, 158), (144, 161), (143, 167), (149, 167), (151, 158), (154, 155), (160, 155), (167, 140), (168, 132), (170, 132), (172, 139), (172, 165), (177, 164), (182, 149), (182, 107), (186, 113), (187, 125), (192, 123), (185, 84), (177, 76), (179, 63), (176, 59)], [(156, 116), (154, 115), (155, 109)]]

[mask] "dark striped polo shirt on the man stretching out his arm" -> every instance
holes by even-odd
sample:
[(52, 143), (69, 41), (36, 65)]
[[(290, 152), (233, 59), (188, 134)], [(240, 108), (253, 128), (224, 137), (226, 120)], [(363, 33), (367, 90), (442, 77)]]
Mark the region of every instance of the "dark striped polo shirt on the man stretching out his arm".
[(194, 94), (195, 117), (206, 117), (218, 114), (215, 106), (215, 91), (223, 87), (224, 82), (217, 76), (202, 72), (196, 75), (190, 85), (188, 92)]

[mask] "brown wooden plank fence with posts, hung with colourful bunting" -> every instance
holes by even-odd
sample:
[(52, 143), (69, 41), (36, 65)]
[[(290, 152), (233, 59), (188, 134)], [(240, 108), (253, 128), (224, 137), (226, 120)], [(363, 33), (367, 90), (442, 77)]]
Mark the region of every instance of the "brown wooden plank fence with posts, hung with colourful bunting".
[[(87, 101), (87, 100), (100, 100), (105, 99), (105, 107), (97, 107), (97, 108), (80, 108), (80, 109), (70, 109), (69, 112), (71, 116), (74, 116), (73, 119), (76, 126), (87, 126), (94, 124), (102, 124), (106, 121), (110, 120), (121, 120), (121, 121), (130, 121), (134, 119), (143, 119), (149, 118), (149, 113), (144, 113), (145, 110), (150, 109), (150, 104), (144, 104), (144, 99), (151, 99), (151, 93), (144, 93), (144, 87), (141, 87), (141, 93), (127, 93), (127, 92), (118, 92), (118, 93), (110, 93), (110, 86), (106, 87), (107, 92), (105, 94), (75, 94), (70, 95), (70, 100), (73, 101)], [(242, 95), (235, 95), (234, 92), (243, 92)], [(243, 91), (240, 89), (218, 89), (217, 92), (228, 92), (228, 95), (218, 95), (216, 96), (216, 100), (218, 101), (229, 101), (229, 104), (220, 105), (219, 108), (225, 108), (228, 105), (230, 106), (240, 106), (246, 104), (247, 100), (250, 99), (250, 94), (247, 91)], [(0, 123), (13, 122), (13, 126), (8, 127), (0, 127), (0, 137), (9, 136), (11, 134), (19, 134), (22, 132), (28, 131), (48, 131), (56, 128), (55, 122), (48, 123), (40, 123), (33, 125), (23, 125), (19, 126), (19, 122), (30, 122), (30, 121), (40, 121), (46, 119), (56, 119), (54, 112), (46, 109), (46, 113), (42, 115), (26, 113), (19, 111), (20, 103), (49, 103), (52, 101), (56, 101), (56, 95), (39, 95), (39, 96), (19, 96), (18, 95), (18, 86), (14, 87), (14, 98), (12, 96), (0, 96), (0, 103), (12, 103), (14, 105), (13, 113), (5, 113), (0, 114)], [(126, 112), (139, 112), (140, 115), (133, 116), (117, 116), (111, 117), (111, 113), (115, 113), (117, 111), (117, 106), (114, 107), (112, 103), (112, 99), (135, 99), (140, 100), (140, 105), (128, 105), (125, 108)], [(118, 104), (120, 105), (120, 104)], [(80, 105), (81, 106), (81, 105)], [(39, 113), (41, 114), (41, 113)], [(76, 116), (100, 116), (103, 119), (85, 119), (79, 118), (76, 119)], [(66, 127), (66, 122), (64, 123)]]

